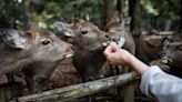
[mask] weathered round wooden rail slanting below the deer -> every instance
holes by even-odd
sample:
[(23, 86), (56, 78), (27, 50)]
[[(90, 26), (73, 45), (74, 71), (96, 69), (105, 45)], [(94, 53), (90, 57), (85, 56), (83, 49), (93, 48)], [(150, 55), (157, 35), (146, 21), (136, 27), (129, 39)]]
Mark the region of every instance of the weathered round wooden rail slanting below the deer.
[(139, 79), (134, 72), (114, 75), (87, 83), (30, 94), (11, 100), (10, 102), (63, 102), (98, 93), (111, 88), (124, 85)]

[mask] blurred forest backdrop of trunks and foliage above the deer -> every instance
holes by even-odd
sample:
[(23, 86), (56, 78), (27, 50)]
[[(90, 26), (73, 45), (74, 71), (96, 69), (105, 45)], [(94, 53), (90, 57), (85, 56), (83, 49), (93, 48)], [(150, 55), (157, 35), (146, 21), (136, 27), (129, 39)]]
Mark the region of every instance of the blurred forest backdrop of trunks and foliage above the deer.
[(31, 20), (52, 29), (54, 20), (91, 21), (101, 29), (115, 10), (131, 17), (131, 30), (175, 30), (182, 27), (182, 0), (1, 0), (0, 27), (26, 29)]

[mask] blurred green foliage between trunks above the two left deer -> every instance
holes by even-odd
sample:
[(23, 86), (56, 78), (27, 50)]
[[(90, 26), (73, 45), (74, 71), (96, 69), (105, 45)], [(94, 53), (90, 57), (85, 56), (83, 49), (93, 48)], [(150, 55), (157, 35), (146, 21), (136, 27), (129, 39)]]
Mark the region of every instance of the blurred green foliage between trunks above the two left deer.
[(102, 0), (34, 0), (31, 16), (43, 28), (52, 28), (53, 20), (58, 18), (69, 22), (82, 18), (100, 26), (102, 4)]

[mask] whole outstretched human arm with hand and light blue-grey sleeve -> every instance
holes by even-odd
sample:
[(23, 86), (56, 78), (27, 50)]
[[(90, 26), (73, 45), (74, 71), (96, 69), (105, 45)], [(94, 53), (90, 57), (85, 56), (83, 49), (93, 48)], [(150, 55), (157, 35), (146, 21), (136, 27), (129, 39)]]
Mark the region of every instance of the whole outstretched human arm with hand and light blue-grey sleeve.
[(140, 89), (159, 102), (182, 102), (182, 80), (164, 73), (159, 67), (148, 67), (135, 57), (115, 43), (111, 43), (105, 50), (107, 59), (114, 64), (129, 65), (142, 76)]

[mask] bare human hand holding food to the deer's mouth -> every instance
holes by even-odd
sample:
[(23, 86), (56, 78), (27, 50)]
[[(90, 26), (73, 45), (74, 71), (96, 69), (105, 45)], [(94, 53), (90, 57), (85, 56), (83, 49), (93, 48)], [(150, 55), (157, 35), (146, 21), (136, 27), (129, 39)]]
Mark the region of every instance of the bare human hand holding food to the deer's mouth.
[(128, 65), (130, 63), (131, 54), (127, 50), (120, 49), (115, 42), (111, 42), (103, 53), (107, 57), (107, 60), (113, 64)]

